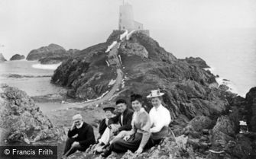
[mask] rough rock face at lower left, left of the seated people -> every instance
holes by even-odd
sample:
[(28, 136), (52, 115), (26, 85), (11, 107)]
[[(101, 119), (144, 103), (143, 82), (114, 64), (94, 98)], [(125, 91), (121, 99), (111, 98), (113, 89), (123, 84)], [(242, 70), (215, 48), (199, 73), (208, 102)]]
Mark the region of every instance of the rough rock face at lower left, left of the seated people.
[(2, 84), (0, 87), (0, 127), (8, 142), (34, 143), (41, 140), (63, 140), (63, 129), (53, 127), (24, 91)]

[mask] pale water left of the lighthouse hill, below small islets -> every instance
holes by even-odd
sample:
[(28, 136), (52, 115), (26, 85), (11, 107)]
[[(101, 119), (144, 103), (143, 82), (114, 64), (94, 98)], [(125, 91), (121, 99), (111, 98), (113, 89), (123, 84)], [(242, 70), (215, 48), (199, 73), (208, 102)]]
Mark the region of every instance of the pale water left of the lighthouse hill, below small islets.
[(57, 65), (41, 65), (35, 61), (8, 61), (0, 63), (0, 83), (18, 87), (29, 96), (59, 94), (65, 88), (50, 83)]

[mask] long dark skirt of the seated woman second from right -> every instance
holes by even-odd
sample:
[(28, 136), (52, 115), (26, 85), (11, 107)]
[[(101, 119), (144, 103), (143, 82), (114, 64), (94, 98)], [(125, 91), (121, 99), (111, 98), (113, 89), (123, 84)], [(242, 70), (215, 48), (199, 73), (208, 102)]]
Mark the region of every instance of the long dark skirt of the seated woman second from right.
[[(117, 153), (126, 152), (128, 150), (134, 152), (138, 150), (138, 147), (141, 144), (142, 133), (136, 132), (128, 141), (125, 141), (122, 138), (119, 138), (115, 142), (110, 145), (110, 150), (115, 151)], [(154, 145), (152, 138), (148, 139), (147, 145), (144, 148), (151, 148)]]

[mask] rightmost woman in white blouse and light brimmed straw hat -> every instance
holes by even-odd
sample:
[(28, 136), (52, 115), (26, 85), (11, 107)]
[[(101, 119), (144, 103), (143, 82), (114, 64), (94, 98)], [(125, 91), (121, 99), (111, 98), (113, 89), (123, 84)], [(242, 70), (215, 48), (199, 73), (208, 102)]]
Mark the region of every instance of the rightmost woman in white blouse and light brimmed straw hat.
[(153, 105), (149, 116), (151, 119), (151, 138), (154, 145), (158, 144), (169, 133), (170, 112), (161, 103), (163, 95), (164, 93), (161, 93), (160, 90), (153, 90), (147, 96)]

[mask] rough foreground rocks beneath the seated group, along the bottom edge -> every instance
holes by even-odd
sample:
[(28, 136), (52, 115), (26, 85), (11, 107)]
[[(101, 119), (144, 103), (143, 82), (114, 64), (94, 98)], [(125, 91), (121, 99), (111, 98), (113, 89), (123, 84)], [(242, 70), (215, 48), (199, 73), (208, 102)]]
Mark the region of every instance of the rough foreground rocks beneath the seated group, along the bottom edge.
[[(163, 142), (160, 143), (160, 145), (156, 145), (151, 149), (146, 150), (142, 154), (134, 154), (131, 151), (126, 152), (125, 154), (117, 154), (115, 152), (112, 152), (112, 154), (107, 157), (107, 159), (142, 159), (142, 158), (148, 158), (148, 159), (180, 159), (180, 158), (203, 158), (199, 157), (198, 154), (196, 154), (193, 151), (193, 148), (191, 146), (187, 145), (187, 138), (183, 135), (178, 136), (177, 138), (174, 138), (173, 136), (170, 136), (166, 138)], [(94, 145), (95, 146), (95, 145)], [(101, 158), (99, 157), (99, 154), (93, 153), (94, 146), (91, 146), (89, 149), (86, 150), (86, 152), (79, 152), (76, 154), (71, 155), (68, 157), (68, 159), (89, 159), (89, 158)]]

